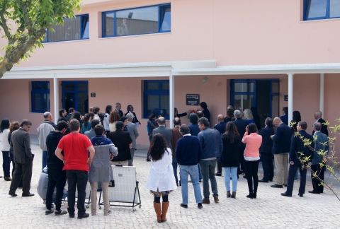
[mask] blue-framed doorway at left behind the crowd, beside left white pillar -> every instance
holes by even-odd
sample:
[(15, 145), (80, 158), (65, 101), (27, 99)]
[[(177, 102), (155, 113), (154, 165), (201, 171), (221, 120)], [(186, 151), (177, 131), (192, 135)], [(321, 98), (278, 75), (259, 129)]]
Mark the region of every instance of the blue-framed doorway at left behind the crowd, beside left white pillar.
[(74, 107), (84, 115), (89, 112), (89, 82), (62, 81), (62, 107), (69, 112)]

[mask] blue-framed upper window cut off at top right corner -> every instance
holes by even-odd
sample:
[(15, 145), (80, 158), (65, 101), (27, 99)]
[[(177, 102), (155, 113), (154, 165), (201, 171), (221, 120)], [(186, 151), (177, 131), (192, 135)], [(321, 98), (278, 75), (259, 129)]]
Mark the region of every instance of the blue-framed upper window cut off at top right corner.
[(305, 0), (305, 20), (340, 18), (340, 0)]

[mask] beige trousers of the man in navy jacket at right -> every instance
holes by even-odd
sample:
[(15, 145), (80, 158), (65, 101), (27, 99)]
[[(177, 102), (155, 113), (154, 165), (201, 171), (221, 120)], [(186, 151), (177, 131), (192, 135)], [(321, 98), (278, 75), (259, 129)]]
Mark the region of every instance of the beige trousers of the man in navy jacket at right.
[(276, 182), (278, 185), (288, 184), (288, 153), (274, 154)]

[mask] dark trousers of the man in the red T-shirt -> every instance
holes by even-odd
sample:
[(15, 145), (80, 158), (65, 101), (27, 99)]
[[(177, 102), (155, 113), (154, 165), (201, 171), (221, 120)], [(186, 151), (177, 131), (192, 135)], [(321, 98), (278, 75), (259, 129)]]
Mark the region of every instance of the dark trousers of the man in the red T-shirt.
[[(67, 204), (69, 215), (74, 215), (74, 204), (76, 202), (76, 187), (78, 188), (77, 209), (78, 216), (86, 212), (85, 197), (86, 197), (86, 184), (89, 180), (89, 172), (81, 170), (66, 170), (68, 189), (67, 189)], [(95, 193), (96, 194), (96, 193)]]

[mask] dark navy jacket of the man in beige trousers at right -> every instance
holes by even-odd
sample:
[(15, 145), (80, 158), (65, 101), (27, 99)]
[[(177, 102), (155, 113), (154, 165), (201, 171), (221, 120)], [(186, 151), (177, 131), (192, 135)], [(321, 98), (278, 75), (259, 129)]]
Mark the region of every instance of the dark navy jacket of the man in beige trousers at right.
[(288, 153), (290, 151), (291, 137), (292, 131), (290, 130), (290, 127), (284, 123), (280, 124), (273, 136), (273, 154)]

